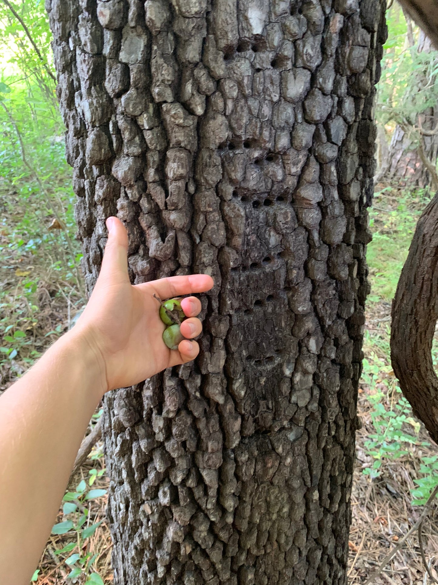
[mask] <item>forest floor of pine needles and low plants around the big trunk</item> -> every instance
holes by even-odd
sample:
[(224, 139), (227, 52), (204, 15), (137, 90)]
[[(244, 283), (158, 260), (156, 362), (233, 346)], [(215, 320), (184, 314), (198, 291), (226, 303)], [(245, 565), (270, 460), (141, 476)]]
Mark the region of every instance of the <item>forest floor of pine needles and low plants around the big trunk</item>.
[[(4, 218), (0, 225), (0, 335), (5, 348), (0, 354), (0, 392), (67, 331), (84, 304), (74, 271), (61, 269), (52, 257), (41, 252), (44, 246), (29, 246), (31, 240), (26, 240), (22, 225), (25, 211), (20, 210), (19, 198), (15, 201), (15, 197), (9, 186), (0, 183)], [(12, 207), (11, 200), (15, 201)], [(374, 240), (368, 260), (372, 291), (367, 303), (366, 359), (359, 388), (358, 410), (363, 426), (357, 432), (349, 542), (349, 582), (354, 584), (364, 584), (397, 546), (438, 484), (436, 445), (412, 417), (409, 404), (399, 393), (389, 356), (391, 298), (416, 219), (427, 201), (421, 193), (383, 190), (371, 211)], [(17, 226), (25, 240), (20, 246), (11, 245), (18, 237)], [(56, 236), (59, 239), (60, 233)], [(51, 245), (55, 254), (62, 242)], [(52, 534), (47, 542), (33, 577), (38, 585), (66, 583), (69, 575), (81, 584), (112, 582), (106, 487), (102, 447), (97, 445), (72, 479), (67, 501), (60, 507), (54, 532), (63, 534)], [(84, 510), (88, 512), (84, 514)], [(436, 503), (430, 506), (422, 534), (426, 559), (438, 579), (434, 570), (438, 563)], [(426, 585), (429, 581), (415, 531), (375, 582)]]

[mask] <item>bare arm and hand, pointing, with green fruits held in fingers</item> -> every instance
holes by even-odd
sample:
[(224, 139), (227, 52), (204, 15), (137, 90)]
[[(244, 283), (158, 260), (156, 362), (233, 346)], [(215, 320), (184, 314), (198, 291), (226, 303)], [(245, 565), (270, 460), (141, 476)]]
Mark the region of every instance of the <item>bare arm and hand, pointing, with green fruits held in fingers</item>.
[[(0, 397), (0, 585), (27, 585), (54, 524), (88, 422), (107, 390), (128, 387), (197, 356), (162, 341), (159, 303), (213, 286), (196, 274), (131, 285), (127, 235), (107, 220), (109, 239), (93, 294), (72, 331)], [(199, 299), (182, 303), (186, 338), (201, 333)]]

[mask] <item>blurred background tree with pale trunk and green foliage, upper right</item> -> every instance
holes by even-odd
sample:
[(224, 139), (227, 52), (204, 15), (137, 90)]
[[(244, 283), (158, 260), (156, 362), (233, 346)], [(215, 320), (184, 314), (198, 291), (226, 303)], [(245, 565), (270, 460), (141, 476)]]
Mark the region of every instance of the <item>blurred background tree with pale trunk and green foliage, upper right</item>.
[[(395, 34), (384, 46), (388, 65), (378, 86), (381, 156), (376, 181), (437, 189), (438, 54), (398, 4), (391, 6), (388, 18)], [(386, 125), (392, 125), (389, 148)]]

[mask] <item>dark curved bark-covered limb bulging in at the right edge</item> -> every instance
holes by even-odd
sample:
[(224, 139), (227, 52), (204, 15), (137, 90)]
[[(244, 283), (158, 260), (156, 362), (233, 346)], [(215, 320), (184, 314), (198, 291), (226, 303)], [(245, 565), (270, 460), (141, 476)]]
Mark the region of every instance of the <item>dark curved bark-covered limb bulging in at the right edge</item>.
[(403, 394), (438, 441), (438, 378), (432, 340), (438, 318), (438, 194), (420, 217), (392, 302), (391, 361)]

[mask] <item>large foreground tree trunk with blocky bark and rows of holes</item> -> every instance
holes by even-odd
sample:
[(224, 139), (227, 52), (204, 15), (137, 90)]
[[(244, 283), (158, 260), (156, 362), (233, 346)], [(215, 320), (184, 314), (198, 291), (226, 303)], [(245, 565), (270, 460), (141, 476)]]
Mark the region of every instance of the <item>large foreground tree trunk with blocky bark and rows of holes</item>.
[(116, 213), (133, 282), (215, 279), (105, 399), (114, 583), (345, 583), (385, 3), (47, 8), (88, 289)]

